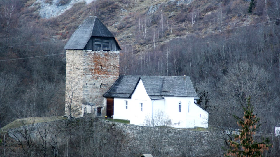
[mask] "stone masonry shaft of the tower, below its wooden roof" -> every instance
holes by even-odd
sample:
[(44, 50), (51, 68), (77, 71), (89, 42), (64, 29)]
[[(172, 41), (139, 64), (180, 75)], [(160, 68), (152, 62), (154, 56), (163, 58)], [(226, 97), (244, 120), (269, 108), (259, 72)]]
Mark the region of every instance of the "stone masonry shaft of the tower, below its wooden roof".
[[(80, 101), (80, 111), (75, 117), (82, 116), (82, 104), (91, 105), (93, 110), (103, 107), (106, 102), (103, 94), (119, 76), (119, 51), (69, 50), (66, 52), (66, 90), (74, 89)], [(66, 96), (66, 101), (67, 101)], [(67, 108), (65, 108), (67, 112)]]

